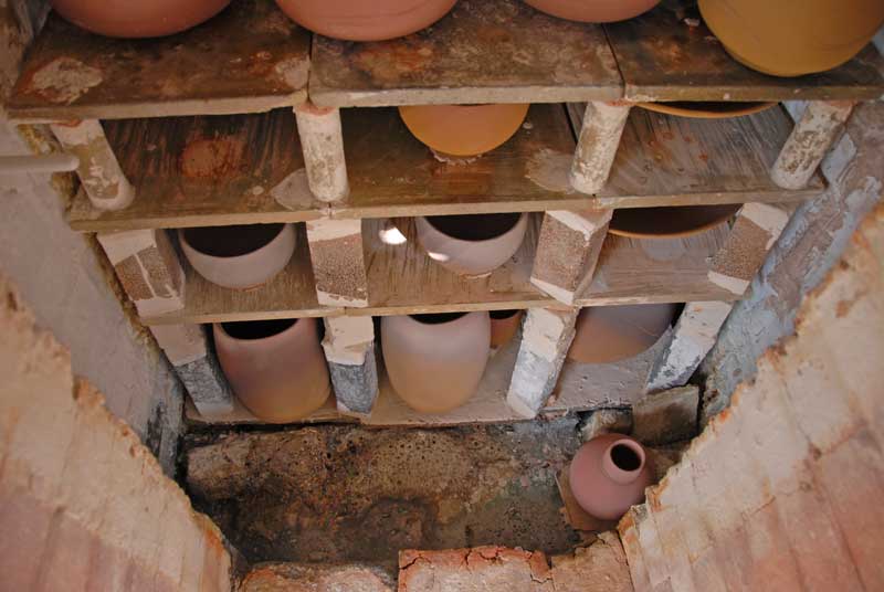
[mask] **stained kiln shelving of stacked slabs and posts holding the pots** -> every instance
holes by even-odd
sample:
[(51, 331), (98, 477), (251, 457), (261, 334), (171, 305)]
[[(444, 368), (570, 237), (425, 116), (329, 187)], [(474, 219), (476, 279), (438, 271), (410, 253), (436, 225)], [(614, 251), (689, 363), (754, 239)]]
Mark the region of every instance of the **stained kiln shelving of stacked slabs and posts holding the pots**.
[[(231, 397), (202, 324), (323, 317), (337, 336), (324, 343), (337, 405), (305, 421), (507, 422), (683, 384), (792, 211), (824, 191), (817, 168), (853, 103), (884, 93), (871, 53), (772, 78), (692, 24), (663, 8), (602, 28), (518, 0), (461, 0), (425, 31), (352, 43), (312, 36), (271, 0), (238, 0), (186, 33), (123, 41), (52, 15), (8, 108), (104, 163), (78, 171), (70, 224), (98, 234), (178, 369), (193, 421), (256, 421)], [(797, 124), (782, 108), (719, 120), (633, 108), (669, 101), (809, 104)], [(506, 145), (456, 163), (438, 160), (392, 108), (470, 103), (532, 107)], [(619, 208), (724, 203), (743, 207), (695, 236), (607, 234)], [(487, 277), (448, 272), (414, 240), (413, 216), (496, 212), (534, 212), (533, 223)], [(303, 223), (298, 247), (248, 292), (201, 278), (166, 232), (271, 222)], [(404, 242), (385, 242), (392, 228)], [(642, 303), (686, 306), (635, 359), (562, 363), (579, 308)], [(519, 338), (473, 400), (444, 415), (408, 409), (376, 368), (373, 341), (347, 338), (373, 335), (372, 316), (511, 308), (528, 309)]]

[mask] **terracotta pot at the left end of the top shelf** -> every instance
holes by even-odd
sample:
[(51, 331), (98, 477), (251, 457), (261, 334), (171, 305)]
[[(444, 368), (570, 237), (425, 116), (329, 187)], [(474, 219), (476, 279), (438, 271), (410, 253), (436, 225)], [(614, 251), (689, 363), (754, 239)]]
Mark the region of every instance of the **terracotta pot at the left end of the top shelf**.
[(86, 31), (116, 38), (180, 33), (221, 12), (230, 0), (51, 0), (52, 8)]

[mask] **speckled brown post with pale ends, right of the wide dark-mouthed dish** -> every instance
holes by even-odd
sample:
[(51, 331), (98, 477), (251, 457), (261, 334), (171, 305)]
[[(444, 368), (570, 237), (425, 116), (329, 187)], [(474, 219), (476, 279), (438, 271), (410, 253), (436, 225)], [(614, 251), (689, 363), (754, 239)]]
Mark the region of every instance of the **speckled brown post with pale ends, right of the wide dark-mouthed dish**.
[(735, 296), (743, 296), (789, 222), (793, 208), (789, 204), (745, 203), (727, 241), (712, 260), (709, 282)]

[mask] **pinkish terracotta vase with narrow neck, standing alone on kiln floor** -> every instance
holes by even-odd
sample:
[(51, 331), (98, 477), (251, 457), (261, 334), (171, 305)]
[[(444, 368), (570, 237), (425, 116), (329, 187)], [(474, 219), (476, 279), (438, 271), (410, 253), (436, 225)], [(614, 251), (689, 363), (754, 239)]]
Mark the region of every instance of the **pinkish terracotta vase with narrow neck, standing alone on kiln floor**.
[(601, 520), (617, 520), (644, 499), (653, 467), (644, 447), (621, 434), (603, 434), (583, 444), (568, 469), (575, 499)]

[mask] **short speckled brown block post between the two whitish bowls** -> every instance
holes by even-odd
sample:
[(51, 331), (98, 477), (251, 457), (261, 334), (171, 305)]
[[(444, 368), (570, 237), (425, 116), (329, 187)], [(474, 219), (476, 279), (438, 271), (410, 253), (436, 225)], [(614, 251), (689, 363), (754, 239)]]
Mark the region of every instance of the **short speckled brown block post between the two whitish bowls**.
[(316, 297), (323, 306), (368, 306), (361, 220), (307, 222)]

